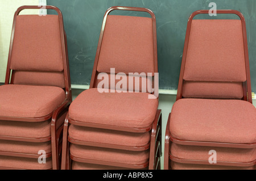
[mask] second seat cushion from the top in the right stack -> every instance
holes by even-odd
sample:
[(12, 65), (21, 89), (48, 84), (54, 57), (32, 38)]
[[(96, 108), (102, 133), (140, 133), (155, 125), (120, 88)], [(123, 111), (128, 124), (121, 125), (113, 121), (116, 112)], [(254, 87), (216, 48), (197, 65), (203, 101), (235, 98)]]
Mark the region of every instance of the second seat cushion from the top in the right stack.
[(208, 161), (210, 150), (215, 150), (218, 162), (240, 162), (250, 163), (256, 161), (256, 148), (240, 149), (240, 148), (221, 148), (209, 146), (188, 146), (172, 143), (170, 153), (179, 159), (192, 159), (200, 161)]

